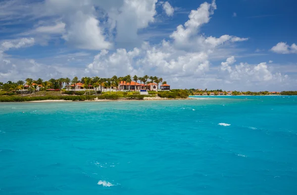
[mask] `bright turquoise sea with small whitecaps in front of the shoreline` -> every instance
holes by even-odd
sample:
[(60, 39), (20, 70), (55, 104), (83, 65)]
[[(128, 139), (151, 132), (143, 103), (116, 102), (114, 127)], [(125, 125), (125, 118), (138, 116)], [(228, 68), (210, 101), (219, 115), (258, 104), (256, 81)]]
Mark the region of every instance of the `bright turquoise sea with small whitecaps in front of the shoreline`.
[(0, 195), (296, 195), (297, 96), (0, 104)]

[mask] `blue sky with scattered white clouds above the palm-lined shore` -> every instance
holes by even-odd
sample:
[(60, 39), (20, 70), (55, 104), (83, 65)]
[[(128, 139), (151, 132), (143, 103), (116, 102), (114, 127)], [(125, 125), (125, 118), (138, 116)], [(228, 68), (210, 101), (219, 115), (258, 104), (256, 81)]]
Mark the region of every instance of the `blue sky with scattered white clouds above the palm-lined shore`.
[(294, 0), (1, 0), (0, 81), (152, 75), (297, 90)]

